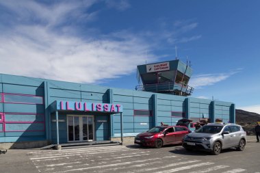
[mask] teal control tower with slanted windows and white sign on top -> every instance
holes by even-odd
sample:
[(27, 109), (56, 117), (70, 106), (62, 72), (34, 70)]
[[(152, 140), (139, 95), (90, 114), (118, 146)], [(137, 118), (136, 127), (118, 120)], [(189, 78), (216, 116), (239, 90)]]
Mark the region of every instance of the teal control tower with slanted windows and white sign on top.
[(190, 96), (194, 90), (187, 85), (191, 75), (192, 68), (179, 59), (140, 65), (137, 71), (140, 85), (135, 90)]

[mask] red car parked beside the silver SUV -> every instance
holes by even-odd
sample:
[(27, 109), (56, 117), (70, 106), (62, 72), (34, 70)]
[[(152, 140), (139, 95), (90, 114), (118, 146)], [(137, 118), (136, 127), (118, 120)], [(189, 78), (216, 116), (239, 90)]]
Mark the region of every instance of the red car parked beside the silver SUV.
[(182, 144), (183, 137), (190, 132), (187, 127), (183, 126), (153, 127), (153, 129), (138, 134), (135, 137), (135, 144), (155, 148), (161, 148), (161, 146), (170, 144)]

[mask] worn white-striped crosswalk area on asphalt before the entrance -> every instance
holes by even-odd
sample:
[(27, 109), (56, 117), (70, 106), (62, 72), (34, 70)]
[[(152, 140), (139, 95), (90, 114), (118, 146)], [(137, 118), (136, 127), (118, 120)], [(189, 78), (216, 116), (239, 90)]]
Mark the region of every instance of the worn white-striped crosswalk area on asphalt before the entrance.
[[(28, 152), (38, 172), (246, 172), (242, 168), (232, 168), (230, 165), (218, 165), (212, 161), (190, 159), (183, 155), (166, 152), (158, 157), (160, 150), (142, 148), (127, 148), (126, 146), (105, 146), (90, 148), (73, 148), (66, 150), (41, 150)], [(199, 168), (199, 170), (192, 170)], [(221, 170), (221, 171), (220, 171)]]

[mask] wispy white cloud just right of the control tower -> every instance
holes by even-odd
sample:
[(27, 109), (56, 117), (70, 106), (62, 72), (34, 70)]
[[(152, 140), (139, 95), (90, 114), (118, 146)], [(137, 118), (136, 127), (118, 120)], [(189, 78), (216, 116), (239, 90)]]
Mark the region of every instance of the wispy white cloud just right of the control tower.
[(226, 80), (237, 72), (239, 72), (239, 70), (219, 74), (197, 75), (190, 79), (190, 86), (200, 89), (204, 86), (214, 85), (215, 83)]

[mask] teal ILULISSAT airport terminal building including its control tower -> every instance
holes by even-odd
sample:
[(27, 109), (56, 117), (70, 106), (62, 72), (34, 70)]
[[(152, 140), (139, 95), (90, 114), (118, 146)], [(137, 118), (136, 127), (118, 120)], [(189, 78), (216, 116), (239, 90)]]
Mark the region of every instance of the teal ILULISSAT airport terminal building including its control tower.
[(137, 76), (125, 90), (0, 74), (0, 147), (114, 141), (182, 118), (235, 122), (234, 103), (191, 96), (192, 68), (179, 59), (140, 65)]

